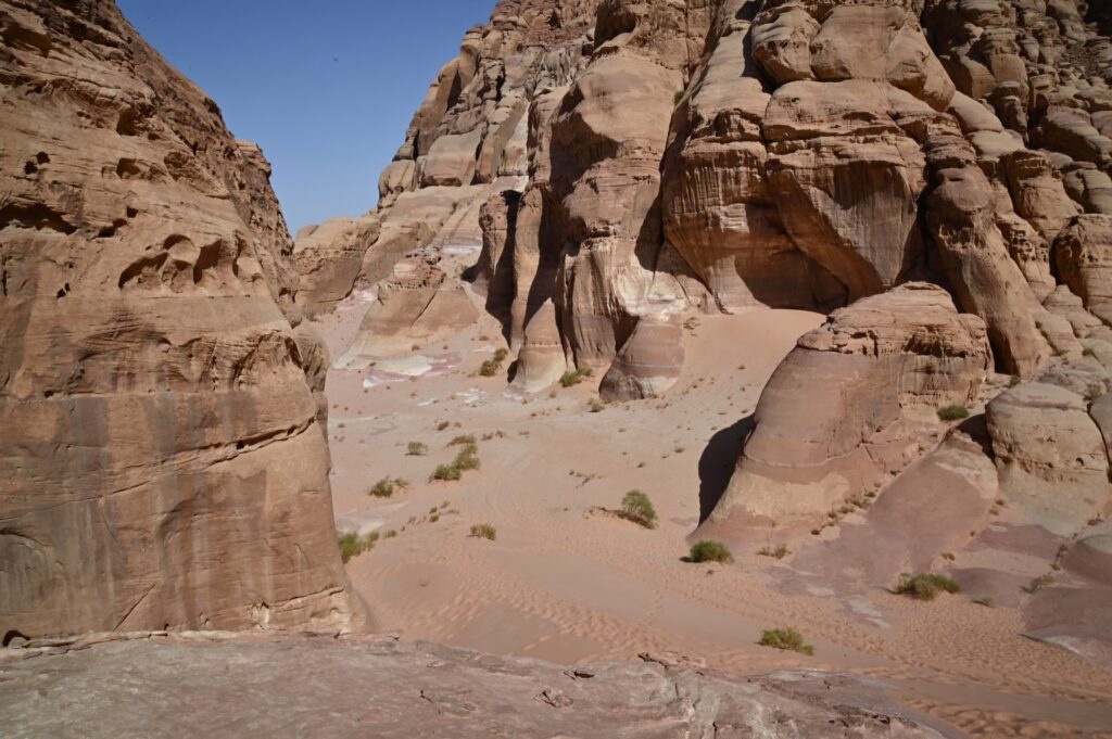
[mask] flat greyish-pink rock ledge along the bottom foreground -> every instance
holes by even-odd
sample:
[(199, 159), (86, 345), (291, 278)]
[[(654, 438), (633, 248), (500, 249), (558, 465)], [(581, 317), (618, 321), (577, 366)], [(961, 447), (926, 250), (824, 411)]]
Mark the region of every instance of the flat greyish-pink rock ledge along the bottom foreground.
[[(107, 739), (152, 736), (173, 726), (205, 736), (234, 736), (250, 727), (270, 736), (294, 717), (311, 716), (308, 736), (344, 739), (365, 737), (368, 726), (376, 737), (398, 739), (712, 739), (724, 730), (770, 739), (943, 736), (893, 705), (880, 681), (815, 670), (729, 676), (671, 653), (564, 668), (390, 638), (133, 637), (3, 650), (16, 659), (19, 652), (44, 652), (0, 665), (6, 733)], [(295, 683), (290, 673), (306, 679)], [(136, 681), (145, 690), (137, 693)], [(40, 691), (64, 693), (73, 705), (41, 710)], [(162, 698), (170, 692), (178, 700)], [(136, 710), (102, 709), (121, 701)], [(237, 728), (229, 733), (229, 726)]]

